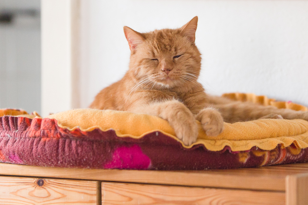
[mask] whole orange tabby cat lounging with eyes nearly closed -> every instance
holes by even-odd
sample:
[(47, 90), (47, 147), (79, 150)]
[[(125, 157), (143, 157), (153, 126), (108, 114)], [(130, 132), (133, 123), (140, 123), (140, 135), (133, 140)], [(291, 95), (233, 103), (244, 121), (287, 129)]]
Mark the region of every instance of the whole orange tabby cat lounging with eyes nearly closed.
[(195, 45), (198, 17), (179, 29), (138, 33), (124, 26), (131, 49), (129, 69), (118, 82), (101, 90), (90, 108), (126, 110), (159, 116), (186, 145), (197, 140), (195, 119), (208, 136), (223, 131), (223, 122), (260, 118), (301, 118), (308, 112), (278, 109), (210, 96), (197, 82), (201, 68)]

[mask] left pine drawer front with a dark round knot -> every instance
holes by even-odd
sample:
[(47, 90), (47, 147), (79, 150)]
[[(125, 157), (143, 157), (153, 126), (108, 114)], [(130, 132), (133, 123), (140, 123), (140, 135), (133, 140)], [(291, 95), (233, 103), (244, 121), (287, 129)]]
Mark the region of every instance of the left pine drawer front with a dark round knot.
[(97, 204), (96, 181), (0, 176), (1, 204)]

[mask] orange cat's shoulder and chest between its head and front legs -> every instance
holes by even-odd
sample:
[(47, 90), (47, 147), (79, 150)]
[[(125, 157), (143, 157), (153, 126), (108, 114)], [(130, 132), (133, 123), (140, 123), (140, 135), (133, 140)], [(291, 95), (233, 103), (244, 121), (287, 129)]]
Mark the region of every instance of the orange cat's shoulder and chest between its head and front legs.
[(91, 104), (91, 108), (138, 111), (140, 105), (176, 99), (182, 102), (193, 114), (198, 114), (206, 106), (207, 94), (198, 83), (187, 92), (170, 89), (151, 89), (152, 85), (132, 89), (136, 83), (124, 76), (120, 81), (101, 90)]

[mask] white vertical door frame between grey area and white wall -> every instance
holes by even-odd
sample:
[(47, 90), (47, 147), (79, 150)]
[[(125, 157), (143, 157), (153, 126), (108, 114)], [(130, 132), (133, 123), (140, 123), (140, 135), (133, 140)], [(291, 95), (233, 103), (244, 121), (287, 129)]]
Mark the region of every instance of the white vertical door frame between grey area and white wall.
[(42, 116), (80, 107), (79, 3), (42, 1)]

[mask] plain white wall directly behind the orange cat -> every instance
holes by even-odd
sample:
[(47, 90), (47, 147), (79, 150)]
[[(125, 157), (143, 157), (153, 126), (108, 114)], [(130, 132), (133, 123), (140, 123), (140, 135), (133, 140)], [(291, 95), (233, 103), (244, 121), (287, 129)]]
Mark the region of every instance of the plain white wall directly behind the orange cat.
[(200, 82), (308, 105), (308, 1), (83, 0), (81, 107), (128, 69), (123, 26), (177, 28), (198, 15)]

